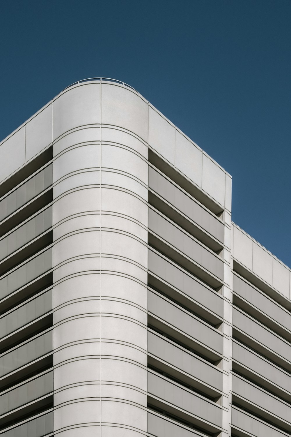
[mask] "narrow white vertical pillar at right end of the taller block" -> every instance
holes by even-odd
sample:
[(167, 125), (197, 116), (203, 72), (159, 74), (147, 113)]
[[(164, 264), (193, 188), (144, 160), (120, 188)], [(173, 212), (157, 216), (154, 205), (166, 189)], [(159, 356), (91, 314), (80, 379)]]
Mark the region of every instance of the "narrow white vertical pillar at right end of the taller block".
[(231, 436), (231, 385), (232, 385), (232, 323), (233, 274), (231, 249), (231, 177), (226, 173), (224, 231), (224, 285), (223, 285), (223, 437)]

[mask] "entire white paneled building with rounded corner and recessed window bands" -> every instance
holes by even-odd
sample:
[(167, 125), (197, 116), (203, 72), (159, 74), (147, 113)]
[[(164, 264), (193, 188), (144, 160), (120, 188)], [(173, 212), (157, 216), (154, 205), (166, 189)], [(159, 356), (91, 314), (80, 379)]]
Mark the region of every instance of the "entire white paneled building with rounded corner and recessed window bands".
[(0, 172), (0, 437), (290, 436), (291, 271), (210, 156), (99, 78)]

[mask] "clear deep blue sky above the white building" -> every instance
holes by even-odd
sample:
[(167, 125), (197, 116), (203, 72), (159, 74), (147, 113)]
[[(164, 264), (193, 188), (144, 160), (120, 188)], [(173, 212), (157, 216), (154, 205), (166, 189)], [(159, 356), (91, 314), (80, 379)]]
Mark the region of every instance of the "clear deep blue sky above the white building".
[(0, 140), (72, 82), (129, 83), (233, 176), (233, 221), (291, 267), (291, 0), (0, 7)]

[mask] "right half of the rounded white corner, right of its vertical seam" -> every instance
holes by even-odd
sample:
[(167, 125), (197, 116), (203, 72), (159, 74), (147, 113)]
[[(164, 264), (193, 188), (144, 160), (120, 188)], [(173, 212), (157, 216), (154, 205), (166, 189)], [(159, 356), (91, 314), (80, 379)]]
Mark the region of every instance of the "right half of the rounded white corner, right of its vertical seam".
[(147, 435), (147, 103), (102, 83), (101, 435)]

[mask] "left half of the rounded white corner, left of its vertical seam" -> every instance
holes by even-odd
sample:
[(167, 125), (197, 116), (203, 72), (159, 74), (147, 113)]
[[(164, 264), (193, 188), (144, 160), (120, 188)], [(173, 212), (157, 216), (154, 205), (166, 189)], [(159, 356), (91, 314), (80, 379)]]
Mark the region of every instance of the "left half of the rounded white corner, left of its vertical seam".
[(100, 435), (100, 84), (53, 102), (54, 432)]

